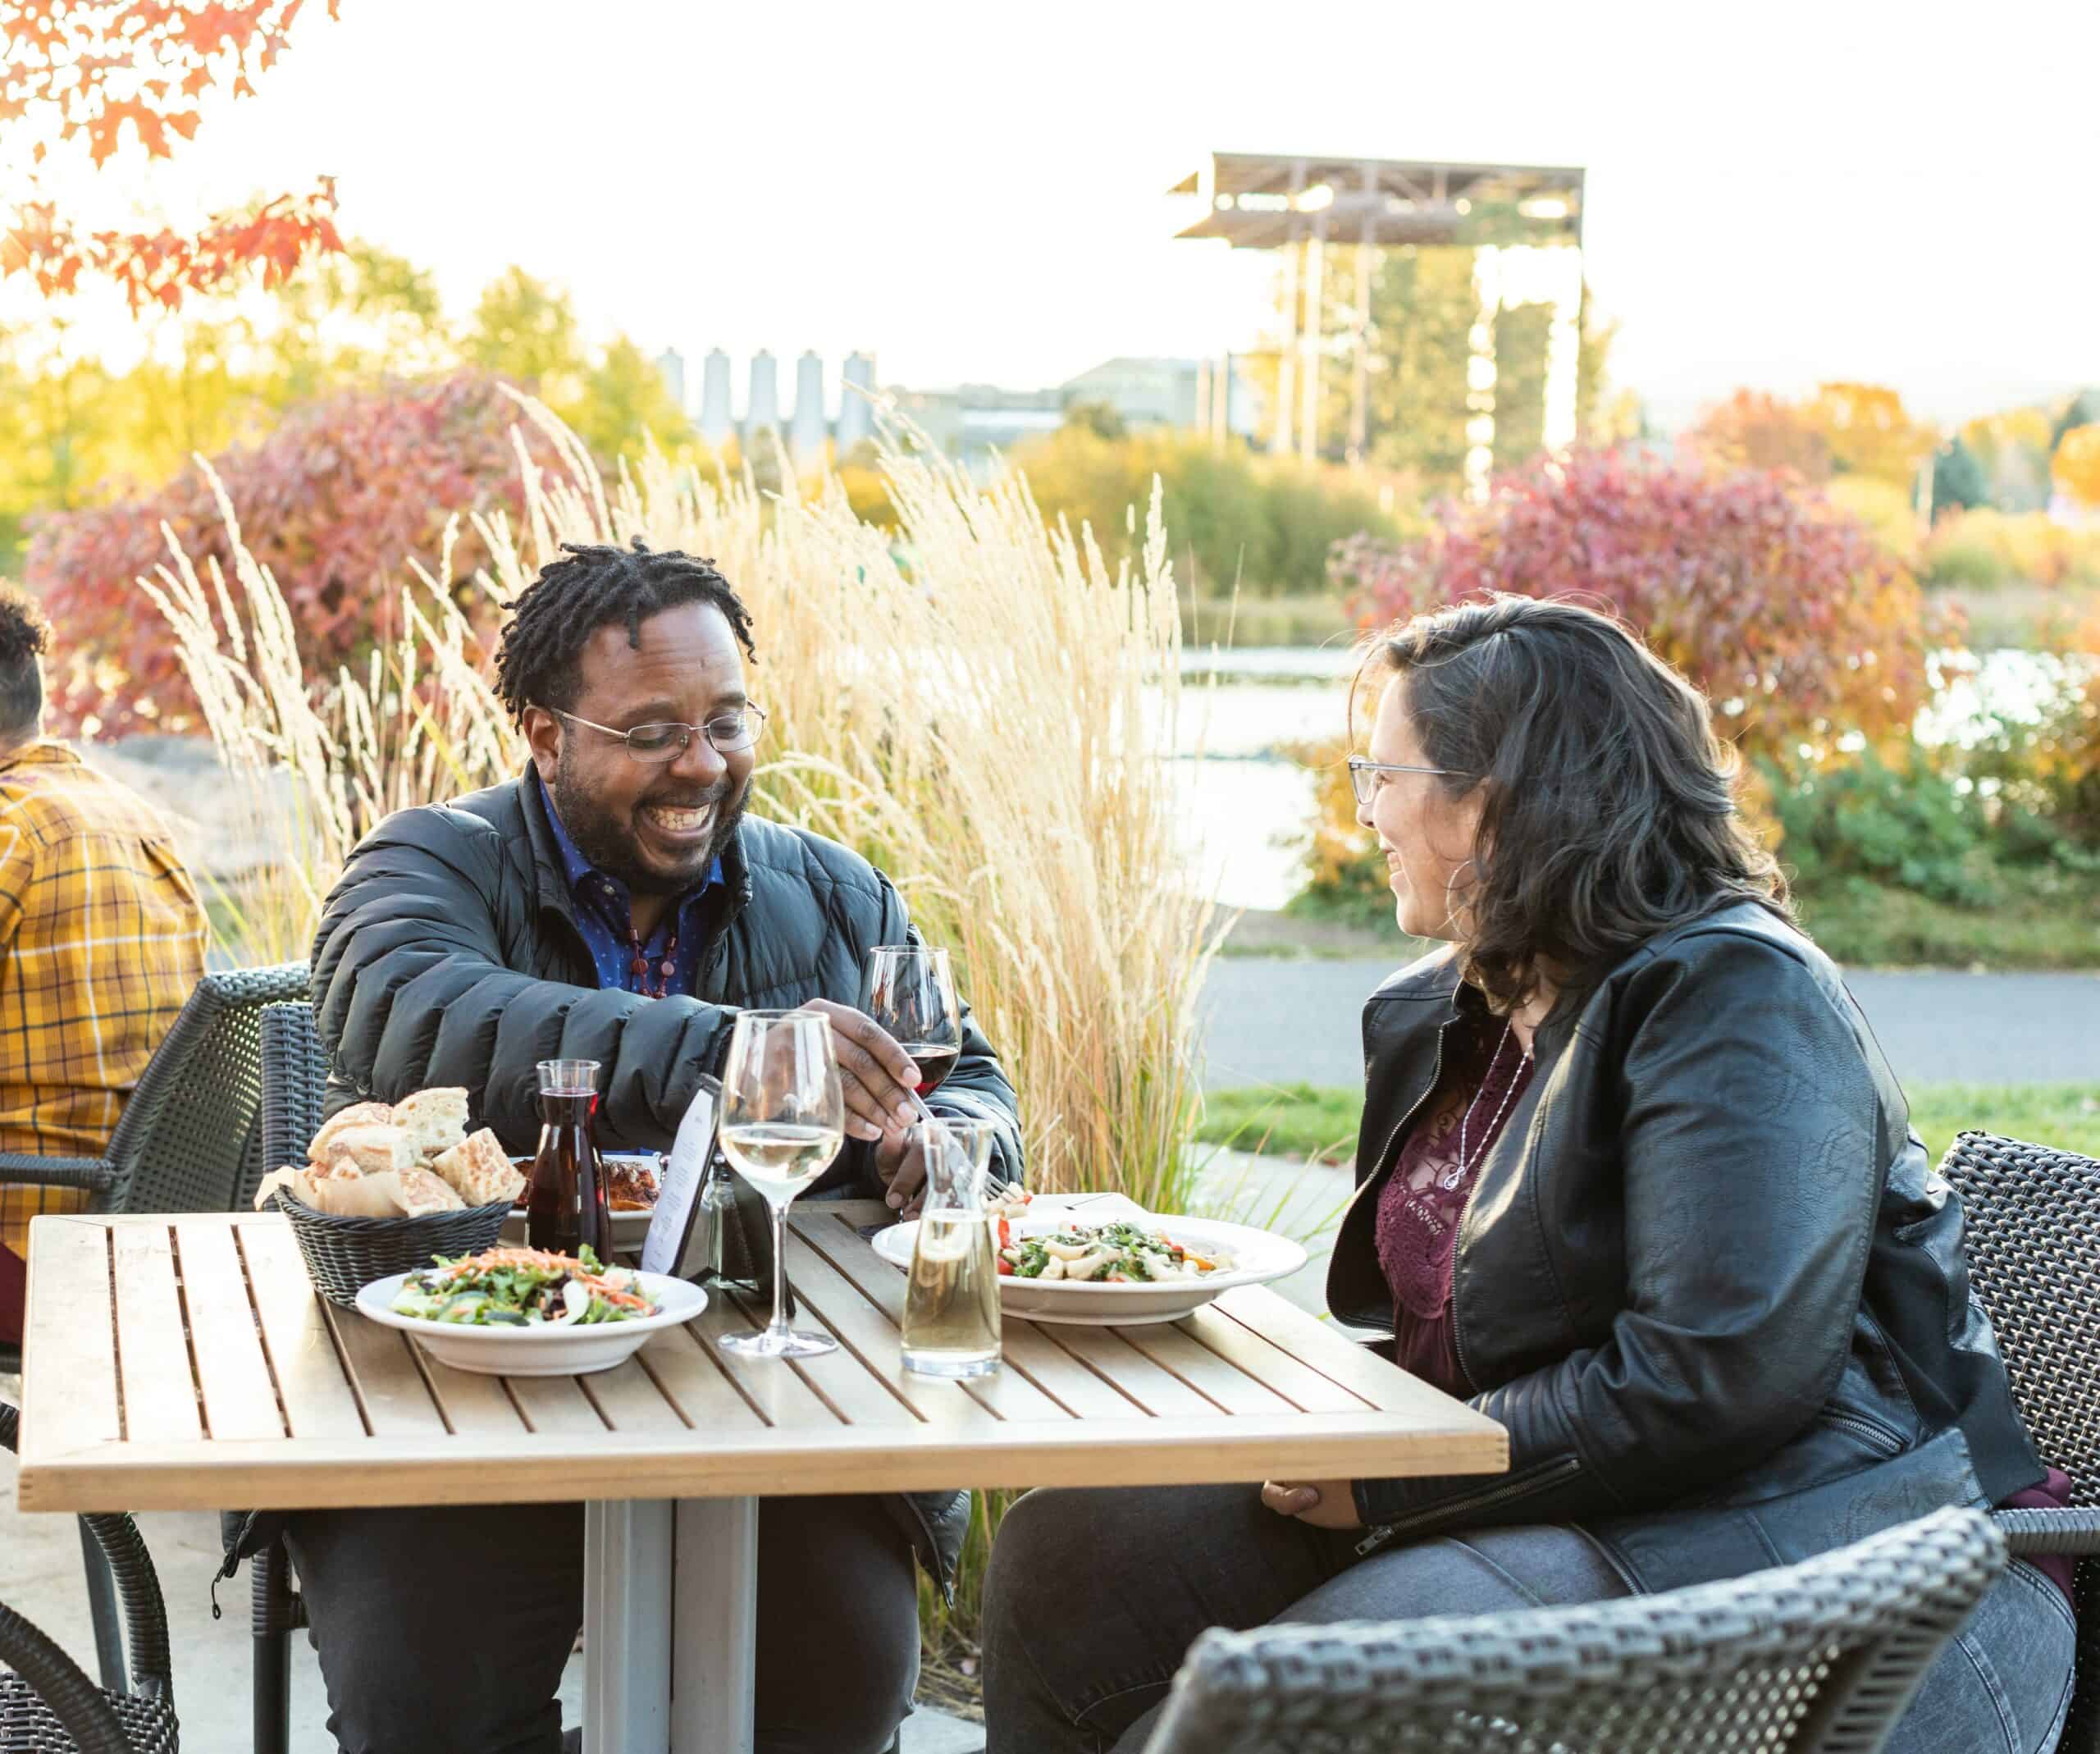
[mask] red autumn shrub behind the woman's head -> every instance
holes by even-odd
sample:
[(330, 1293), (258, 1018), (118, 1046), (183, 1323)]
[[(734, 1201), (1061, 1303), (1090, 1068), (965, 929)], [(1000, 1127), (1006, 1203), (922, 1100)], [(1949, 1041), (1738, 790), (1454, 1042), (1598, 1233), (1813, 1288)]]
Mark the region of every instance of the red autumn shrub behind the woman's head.
[(1705, 689), (1745, 756), (1787, 767), (1848, 731), (1907, 735), (1926, 693), (1917, 582), (1777, 471), (1579, 452), (1411, 542), (1340, 542), (1329, 576), (1367, 626), (1491, 590), (1611, 609)]

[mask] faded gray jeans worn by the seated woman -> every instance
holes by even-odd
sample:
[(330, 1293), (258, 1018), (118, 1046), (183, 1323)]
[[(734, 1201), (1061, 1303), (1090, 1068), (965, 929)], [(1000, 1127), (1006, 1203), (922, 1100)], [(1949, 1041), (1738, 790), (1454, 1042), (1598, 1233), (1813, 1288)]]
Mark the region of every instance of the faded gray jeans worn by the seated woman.
[[(1579, 1529), (1483, 1529), (1361, 1563), (1357, 1540), (1277, 1517), (1252, 1487), (1031, 1491), (1008, 1512), (985, 1582), (987, 1754), (1136, 1754), (1210, 1626), (1628, 1594)], [(2062, 1592), (2014, 1565), (1926, 1674), (1888, 1754), (2050, 1754), (2073, 1645)]]

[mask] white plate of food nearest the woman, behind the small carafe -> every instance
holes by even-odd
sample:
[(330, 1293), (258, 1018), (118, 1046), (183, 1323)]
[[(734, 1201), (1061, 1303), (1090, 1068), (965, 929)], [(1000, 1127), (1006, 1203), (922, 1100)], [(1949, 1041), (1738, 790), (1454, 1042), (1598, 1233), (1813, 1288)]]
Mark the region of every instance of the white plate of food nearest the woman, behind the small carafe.
[[(1289, 1237), (1220, 1218), (1149, 1212), (1086, 1216), (1035, 1208), (1025, 1193), (991, 1202), (1000, 1309), (1029, 1321), (1119, 1328), (1178, 1321), (1233, 1286), (1260, 1286), (1306, 1265)], [(911, 1267), (918, 1225), (876, 1231), (876, 1254)]]

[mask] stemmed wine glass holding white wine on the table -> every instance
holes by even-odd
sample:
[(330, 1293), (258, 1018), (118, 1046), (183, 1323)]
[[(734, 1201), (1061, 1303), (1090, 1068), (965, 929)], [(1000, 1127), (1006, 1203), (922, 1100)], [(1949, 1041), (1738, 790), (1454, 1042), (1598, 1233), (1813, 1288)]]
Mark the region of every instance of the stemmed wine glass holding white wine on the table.
[(846, 1141), (846, 1097), (832, 1057), (832, 1021), (817, 1010), (746, 1010), (722, 1063), (722, 1155), (773, 1210), (773, 1321), (724, 1334), (724, 1353), (806, 1359), (838, 1351), (830, 1334), (788, 1325), (788, 1206)]

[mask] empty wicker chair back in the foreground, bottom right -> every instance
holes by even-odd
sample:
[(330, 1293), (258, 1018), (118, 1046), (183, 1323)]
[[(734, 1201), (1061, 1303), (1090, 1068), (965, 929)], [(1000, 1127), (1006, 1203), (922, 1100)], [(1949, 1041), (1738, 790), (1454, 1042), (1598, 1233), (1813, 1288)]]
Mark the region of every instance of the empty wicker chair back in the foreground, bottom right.
[(1989, 1517), (1936, 1510), (1659, 1596), (1205, 1632), (1147, 1754), (1875, 1754), (2003, 1569)]

